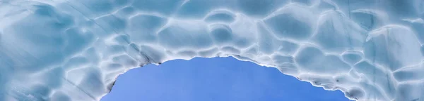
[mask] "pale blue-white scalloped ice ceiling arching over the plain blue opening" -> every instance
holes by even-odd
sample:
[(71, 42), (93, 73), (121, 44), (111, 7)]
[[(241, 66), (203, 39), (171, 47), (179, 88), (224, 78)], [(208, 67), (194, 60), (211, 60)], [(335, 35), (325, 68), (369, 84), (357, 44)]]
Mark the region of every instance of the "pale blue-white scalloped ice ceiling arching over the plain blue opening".
[(0, 100), (100, 100), (128, 69), (225, 56), (424, 100), (423, 18), (423, 0), (1, 0)]

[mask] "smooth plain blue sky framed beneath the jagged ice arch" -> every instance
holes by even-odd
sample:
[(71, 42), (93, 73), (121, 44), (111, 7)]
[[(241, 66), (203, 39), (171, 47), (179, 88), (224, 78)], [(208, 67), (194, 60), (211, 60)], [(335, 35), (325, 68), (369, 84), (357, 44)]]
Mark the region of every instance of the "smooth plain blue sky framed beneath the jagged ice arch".
[(172, 60), (131, 69), (101, 101), (347, 101), (329, 91), (235, 58)]

